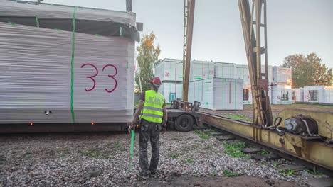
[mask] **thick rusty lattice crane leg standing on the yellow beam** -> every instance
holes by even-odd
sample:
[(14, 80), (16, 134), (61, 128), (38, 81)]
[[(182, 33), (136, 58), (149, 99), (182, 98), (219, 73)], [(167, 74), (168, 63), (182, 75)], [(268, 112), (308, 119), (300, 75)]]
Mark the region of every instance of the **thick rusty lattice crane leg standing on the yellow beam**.
[[(267, 23), (265, 4), (266, 2), (263, 0), (253, 0), (252, 8), (250, 9), (248, 0), (238, 0), (253, 95), (253, 123), (258, 126), (268, 127), (273, 125), (273, 115), (270, 109), (270, 98), (268, 97)], [(264, 12), (265, 23), (261, 23), (262, 11)], [(255, 21), (253, 21), (254, 16)], [(255, 29), (253, 25), (255, 25)], [(264, 47), (261, 47), (260, 30), (262, 27), (265, 28)], [(261, 73), (262, 54), (265, 54), (264, 74)]]

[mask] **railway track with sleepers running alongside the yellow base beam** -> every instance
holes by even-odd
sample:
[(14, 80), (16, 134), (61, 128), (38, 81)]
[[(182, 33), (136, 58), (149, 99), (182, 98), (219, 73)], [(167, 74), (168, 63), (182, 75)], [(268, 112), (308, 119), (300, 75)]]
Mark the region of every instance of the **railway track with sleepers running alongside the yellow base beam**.
[[(290, 154), (289, 152), (286, 152), (282, 149), (279, 149), (278, 147), (272, 147), (264, 143), (258, 142), (254, 140), (252, 137), (246, 137), (244, 135), (240, 135), (239, 133), (233, 132), (232, 130), (228, 130), (226, 128), (221, 127), (221, 125), (208, 123), (208, 121), (205, 119), (209, 117), (209, 118), (216, 118), (217, 120), (224, 119), (224, 120), (231, 120), (235, 123), (250, 124), (248, 122), (232, 118), (226, 118), (221, 115), (212, 115), (210, 113), (201, 113), (201, 114), (203, 115), (203, 127), (199, 127), (197, 128), (197, 130), (201, 130), (203, 133), (206, 133), (206, 135), (211, 135), (215, 137), (217, 140), (225, 142), (228, 145), (236, 145), (238, 143), (244, 143), (245, 147), (243, 147), (241, 151), (243, 152), (243, 154), (247, 155), (247, 157), (250, 157), (251, 159), (270, 160), (270, 159), (284, 158), (292, 162), (295, 162), (295, 164), (290, 166), (285, 166), (284, 168), (282, 168), (282, 170), (287, 171), (288, 169), (292, 169), (294, 171), (300, 171), (304, 169), (314, 169), (315, 167), (317, 171), (327, 174), (328, 176), (333, 176), (332, 170), (324, 168), (319, 164), (315, 164), (305, 159), (296, 157), (295, 155)], [(211, 122), (211, 120), (209, 121)]]

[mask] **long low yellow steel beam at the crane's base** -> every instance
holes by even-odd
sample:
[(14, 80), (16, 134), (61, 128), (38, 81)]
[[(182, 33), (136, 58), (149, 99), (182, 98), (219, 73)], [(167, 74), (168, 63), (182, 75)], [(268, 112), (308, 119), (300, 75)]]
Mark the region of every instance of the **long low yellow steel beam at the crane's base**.
[[(240, 137), (254, 140), (265, 146), (277, 149), (280, 152), (285, 152), (294, 157), (304, 159), (307, 162), (312, 162), (326, 169), (333, 170), (333, 145), (325, 145), (324, 142), (320, 141), (308, 141), (305, 137), (288, 133), (281, 137), (277, 135), (275, 130), (263, 129), (251, 123), (222, 118), (206, 113), (202, 114), (203, 123), (208, 123), (209, 125), (239, 135)], [(305, 115), (305, 113), (303, 113), (303, 115)], [(332, 118), (332, 115), (333, 114), (331, 114), (329, 118)]]

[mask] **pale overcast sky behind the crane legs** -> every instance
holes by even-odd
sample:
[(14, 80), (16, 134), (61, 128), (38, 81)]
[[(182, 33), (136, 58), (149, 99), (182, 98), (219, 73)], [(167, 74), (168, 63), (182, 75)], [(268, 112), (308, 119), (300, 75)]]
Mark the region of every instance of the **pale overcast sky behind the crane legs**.
[[(267, 0), (268, 64), (317, 52), (333, 67), (333, 0)], [(125, 11), (125, 0), (44, 0)], [(133, 0), (144, 34), (154, 32), (160, 58), (182, 59), (184, 0)], [(246, 64), (237, 0), (196, 0), (192, 59)]]

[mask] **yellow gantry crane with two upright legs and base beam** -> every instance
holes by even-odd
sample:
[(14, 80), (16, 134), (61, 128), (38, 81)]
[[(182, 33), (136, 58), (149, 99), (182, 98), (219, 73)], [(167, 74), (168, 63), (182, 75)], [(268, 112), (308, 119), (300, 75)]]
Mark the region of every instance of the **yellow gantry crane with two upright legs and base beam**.
[[(238, 0), (253, 93), (253, 123), (202, 113), (203, 123), (333, 171), (332, 112), (287, 109), (273, 122), (268, 97), (266, 4), (267, 0)], [(195, 0), (184, 0), (183, 101), (188, 101), (194, 9)]]

